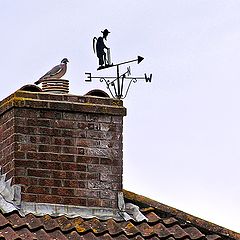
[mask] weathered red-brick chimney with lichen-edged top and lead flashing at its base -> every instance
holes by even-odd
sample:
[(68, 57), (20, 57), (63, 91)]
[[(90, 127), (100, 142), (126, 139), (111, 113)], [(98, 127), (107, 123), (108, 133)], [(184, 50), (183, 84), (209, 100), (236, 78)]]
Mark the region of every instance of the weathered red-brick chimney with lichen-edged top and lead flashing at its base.
[(113, 216), (125, 115), (103, 97), (17, 91), (1, 101), (0, 200), (23, 215)]

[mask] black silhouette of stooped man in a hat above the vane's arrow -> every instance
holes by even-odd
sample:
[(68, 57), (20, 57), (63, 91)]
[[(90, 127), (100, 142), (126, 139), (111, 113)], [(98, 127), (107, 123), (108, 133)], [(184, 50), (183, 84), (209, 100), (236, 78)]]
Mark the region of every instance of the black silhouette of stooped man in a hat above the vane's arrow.
[[(107, 40), (107, 36), (109, 33), (110, 32), (107, 29), (105, 29), (104, 31), (102, 31), (103, 36), (97, 39), (96, 50), (100, 66), (103, 66), (104, 64), (107, 65), (106, 52), (104, 51), (104, 49), (109, 48), (105, 45), (104, 40)], [(95, 39), (96, 38), (94, 38), (94, 40)]]

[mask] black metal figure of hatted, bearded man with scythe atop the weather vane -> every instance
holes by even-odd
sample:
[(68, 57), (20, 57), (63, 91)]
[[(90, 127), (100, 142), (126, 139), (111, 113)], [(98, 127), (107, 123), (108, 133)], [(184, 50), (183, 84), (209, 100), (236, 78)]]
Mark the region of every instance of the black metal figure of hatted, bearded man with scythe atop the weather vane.
[[(104, 31), (102, 31), (102, 33), (102, 37), (93, 38), (93, 51), (94, 53), (97, 52), (97, 57), (99, 59), (99, 69), (103, 68), (104, 66), (106, 67), (111, 65), (110, 48), (108, 48), (104, 43), (104, 40), (107, 40), (107, 36), (110, 32), (105, 29)], [(107, 57), (105, 49), (107, 49)]]

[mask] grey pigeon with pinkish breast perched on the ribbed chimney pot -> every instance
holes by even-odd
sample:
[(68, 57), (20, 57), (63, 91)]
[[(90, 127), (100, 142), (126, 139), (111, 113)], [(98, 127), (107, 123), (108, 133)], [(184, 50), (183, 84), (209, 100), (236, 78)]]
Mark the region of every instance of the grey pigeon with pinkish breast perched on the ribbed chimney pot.
[(35, 82), (36, 85), (40, 84), (41, 82), (43, 82), (44, 80), (47, 79), (53, 79), (53, 78), (61, 78), (67, 71), (67, 63), (68, 63), (68, 59), (64, 58), (61, 63), (55, 67), (53, 67), (50, 71), (48, 71), (45, 75), (43, 75), (42, 77), (39, 78), (39, 80), (37, 80)]

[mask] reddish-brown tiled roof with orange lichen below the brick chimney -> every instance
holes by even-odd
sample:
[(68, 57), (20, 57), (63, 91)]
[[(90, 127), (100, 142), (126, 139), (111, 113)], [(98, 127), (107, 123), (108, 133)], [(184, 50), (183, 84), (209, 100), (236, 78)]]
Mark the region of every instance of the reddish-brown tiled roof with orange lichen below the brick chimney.
[(126, 202), (140, 207), (148, 221), (116, 221), (65, 216), (0, 213), (0, 239), (240, 239), (240, 234), (146, 197), (124, 190)]

